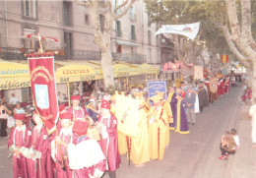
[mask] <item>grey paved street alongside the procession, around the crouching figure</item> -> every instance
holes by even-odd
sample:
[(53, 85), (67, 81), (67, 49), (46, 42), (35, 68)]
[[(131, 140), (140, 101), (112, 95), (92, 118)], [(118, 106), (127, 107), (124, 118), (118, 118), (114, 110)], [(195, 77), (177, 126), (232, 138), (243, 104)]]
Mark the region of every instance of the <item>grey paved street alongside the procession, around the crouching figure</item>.
[[(256, 177), (256, 149), (251, 148), (249, 105), (238, 102), (240, 88), (232, 88), (204, 112), (197, 114), (197, 124), (189, 135), (170, 131), (170, 145), (164, 159), (144, 167), (128, 165), (126, 155), (117, 170), (117, 178), (253, 178)], [(219, 160), (220, 142), (226, 130), (235, 128), (240, 148), (228, 160)], [(0, 141), (0, 177), (12, 177), (12, 161), (7, 159), (7, 140)], [(107, 177), (107, 176), (105, 176)]]

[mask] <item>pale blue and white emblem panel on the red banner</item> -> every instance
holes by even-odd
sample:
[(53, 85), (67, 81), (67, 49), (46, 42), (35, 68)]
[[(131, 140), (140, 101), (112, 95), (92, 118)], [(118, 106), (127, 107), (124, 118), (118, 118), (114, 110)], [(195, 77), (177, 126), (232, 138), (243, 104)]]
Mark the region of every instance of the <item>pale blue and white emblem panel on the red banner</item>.
[(49, 108), (49, 94), (47, 85), (34, 85), (35, 102), (40, 109)]

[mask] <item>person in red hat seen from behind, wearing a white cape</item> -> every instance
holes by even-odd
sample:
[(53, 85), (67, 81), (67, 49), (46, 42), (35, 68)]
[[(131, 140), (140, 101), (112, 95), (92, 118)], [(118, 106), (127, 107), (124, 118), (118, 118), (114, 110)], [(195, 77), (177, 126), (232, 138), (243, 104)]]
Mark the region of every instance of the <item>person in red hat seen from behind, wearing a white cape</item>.
[(94, 139), (86, 136), (88, 124), (86, 121), (76, 120), (73, 125), (72, 143), (56, 138), (58, 145), (67, 148), (69, 167), (73, 178), (99, 178), (105, 171), (105, 157)]

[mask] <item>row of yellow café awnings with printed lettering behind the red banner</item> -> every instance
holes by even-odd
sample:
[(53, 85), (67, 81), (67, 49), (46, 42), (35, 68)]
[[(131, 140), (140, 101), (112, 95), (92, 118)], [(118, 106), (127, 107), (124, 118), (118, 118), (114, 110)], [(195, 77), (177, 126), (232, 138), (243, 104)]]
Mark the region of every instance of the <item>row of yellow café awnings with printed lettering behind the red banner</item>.
[[(149, 64), (112, 63), (114, 77), (159, 74), (160, 69)], [(102, 80), (100, 61), (55, 61), (57, 84)], [(28, 61), (4, 61), (0, 59), (0, 90), (31, 87)]]

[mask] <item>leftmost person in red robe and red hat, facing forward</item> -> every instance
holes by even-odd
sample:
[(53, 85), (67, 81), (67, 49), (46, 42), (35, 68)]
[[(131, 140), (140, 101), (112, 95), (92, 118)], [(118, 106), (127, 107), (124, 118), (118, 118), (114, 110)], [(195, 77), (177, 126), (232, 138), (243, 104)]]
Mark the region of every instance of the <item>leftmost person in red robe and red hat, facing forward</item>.
[(26, 114), (15, 114), (15, 129), (8, 140), (13, 156), (13, 177), (28, 178), (27, 157), (29, 157), (32, 131), (25, 125)]

